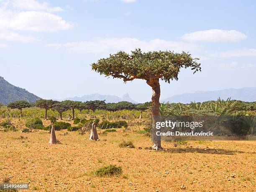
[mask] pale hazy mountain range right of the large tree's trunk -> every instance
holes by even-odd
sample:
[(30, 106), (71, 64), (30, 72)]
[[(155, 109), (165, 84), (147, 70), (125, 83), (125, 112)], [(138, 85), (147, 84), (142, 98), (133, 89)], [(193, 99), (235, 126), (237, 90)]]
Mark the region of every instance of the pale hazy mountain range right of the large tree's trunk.
[(228, 99), (228, 97), (231, 97), (231, 100), (253, 102), (256, 101), (256, 87), (245, 87), (241, 89), (230, 88), (218, 91), (197, 91), (195, 93), (183, 93), (160, 100), (160, 102), (204, 102), (210, 100), (217, 100), (219, 97), (224, 100)]

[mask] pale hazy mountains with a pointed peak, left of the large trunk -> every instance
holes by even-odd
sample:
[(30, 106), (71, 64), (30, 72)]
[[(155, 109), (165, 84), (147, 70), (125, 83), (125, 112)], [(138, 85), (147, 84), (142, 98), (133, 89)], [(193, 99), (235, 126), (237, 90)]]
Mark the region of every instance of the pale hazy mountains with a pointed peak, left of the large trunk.
[[(115, 96), (115, 95), (100, 95), (98, 93), (95, 93), (95, 94), (90, 94), (90, 95), (84, 95), (82, 97), (68, 97), (63, 100), (73, 100), (73, 101), (82, 101), (82, 102), (93, 101), (93, 100), (105, 100), (106, 103), (120, 102), (120, 101), (128, 101), (128, 102), (132, 102), (132, 103), (138, 103), (138, 102), (132, 100), (128, 93), (123, 95), (122, 98)], [(63, 100), (59, 100), (59, 101), (63, 101)]]

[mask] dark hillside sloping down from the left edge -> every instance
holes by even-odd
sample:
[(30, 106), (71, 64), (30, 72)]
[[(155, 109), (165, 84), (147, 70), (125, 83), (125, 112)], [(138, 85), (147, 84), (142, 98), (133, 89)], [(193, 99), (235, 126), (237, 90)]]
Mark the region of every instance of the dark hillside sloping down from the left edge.
[(35, 102), (39, 99), (40, 97), (37, 97), (23, 88), (16, 87), (8, 83), (3, 77), (0, 77), (0, 102), (4, 105), (17, 100)]

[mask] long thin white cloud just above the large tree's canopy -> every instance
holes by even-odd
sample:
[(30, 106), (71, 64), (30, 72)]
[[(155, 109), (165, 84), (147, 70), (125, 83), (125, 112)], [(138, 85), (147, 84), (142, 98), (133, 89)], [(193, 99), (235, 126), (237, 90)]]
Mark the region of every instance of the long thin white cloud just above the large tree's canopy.
[(142, 41), (136, 38), (96, 38), (92, 41), (69, 42), (64, 44), (48, 44), (46, 46), (56, 49), (64, 48), (74, 53), (93, 53), (93, 54), (109, 54), (116, 51), (131, 51), (141, 48), (142, 51), (198, 51), (200, 49), (196, 44), (188, 44), (177, 41), (164, 41), (161, 39), (153, 39), (150, 41)]

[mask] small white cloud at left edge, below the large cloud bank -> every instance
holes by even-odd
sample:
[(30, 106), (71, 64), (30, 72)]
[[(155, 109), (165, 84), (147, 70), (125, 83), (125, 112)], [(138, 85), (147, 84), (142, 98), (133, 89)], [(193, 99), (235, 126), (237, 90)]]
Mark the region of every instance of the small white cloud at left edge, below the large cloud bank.
[(24, 42), (24, 43), (39, 41), (33, 36), (23, 36), (23, 35), (20, 35), (19, 33), (15, 33), (12, 31), (0, 31), (0, 39), (3, 39), (5, 41), (18, 41), (18, 42)]

